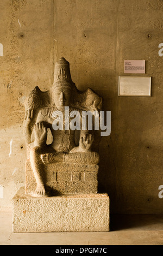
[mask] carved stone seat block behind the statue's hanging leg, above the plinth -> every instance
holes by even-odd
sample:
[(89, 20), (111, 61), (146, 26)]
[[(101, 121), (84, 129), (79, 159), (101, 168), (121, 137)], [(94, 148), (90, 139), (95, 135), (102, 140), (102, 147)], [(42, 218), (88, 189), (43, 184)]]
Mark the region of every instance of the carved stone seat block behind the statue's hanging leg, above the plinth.
[[(55, 163), (45, 165), (45, 180), (47, 186), (53, 189), (53, 194), (89, 194), (98, 190), (98, 165)], [(36, 188), (36, 180), (30, 161), (26, 161), (26, 194), (31, 194)]]

